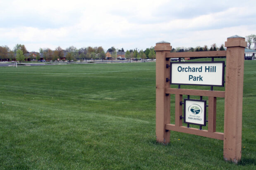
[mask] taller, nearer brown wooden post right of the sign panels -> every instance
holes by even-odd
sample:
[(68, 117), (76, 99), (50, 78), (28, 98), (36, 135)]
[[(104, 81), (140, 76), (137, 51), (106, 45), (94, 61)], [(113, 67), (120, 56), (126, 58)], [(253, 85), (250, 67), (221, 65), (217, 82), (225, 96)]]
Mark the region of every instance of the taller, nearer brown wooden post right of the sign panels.
[(224, 150), (226, 161), (237, 163), (242, 152), (242, 107), (244, 85), (244, 47), (243, 37), (227, 38), (225, 114), (224, 114)]

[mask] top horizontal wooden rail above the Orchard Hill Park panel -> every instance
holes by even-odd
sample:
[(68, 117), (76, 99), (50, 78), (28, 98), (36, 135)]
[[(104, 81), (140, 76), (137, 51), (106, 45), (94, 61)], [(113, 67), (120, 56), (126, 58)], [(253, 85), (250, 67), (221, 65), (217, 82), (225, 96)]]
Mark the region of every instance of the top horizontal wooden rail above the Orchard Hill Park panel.
[(196, 51), (196, 52), (176, 52), (166, 53), (165, 58), (181, 57), (225, 57), (226, 51)]

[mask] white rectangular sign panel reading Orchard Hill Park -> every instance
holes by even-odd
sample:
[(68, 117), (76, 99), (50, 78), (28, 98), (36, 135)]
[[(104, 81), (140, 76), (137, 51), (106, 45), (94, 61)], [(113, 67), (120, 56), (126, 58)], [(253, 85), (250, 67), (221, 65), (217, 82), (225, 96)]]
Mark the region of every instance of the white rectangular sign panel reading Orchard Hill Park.
[(224, 86), (224, 61), (170, 62), (170, 84)]

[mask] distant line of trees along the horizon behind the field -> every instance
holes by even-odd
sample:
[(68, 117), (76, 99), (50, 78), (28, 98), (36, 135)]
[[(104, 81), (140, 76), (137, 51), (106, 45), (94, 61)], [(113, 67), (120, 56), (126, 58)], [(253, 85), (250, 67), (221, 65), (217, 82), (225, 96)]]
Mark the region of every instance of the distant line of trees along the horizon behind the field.
[[(248, 49), (256, 50), (256, 35), (251, 34), (246, 36), (246, 42)], [(203, 47), (177, 47), (172, 48), (171, 52), (189, 52), (189, 51), (217, 51), (217, 50), (225, 50), (224, 44), (221, 44), (220, 47), (214, 43), (211, 47), (204, 45)], [(115, 49), (115, 47), (109, 48), (106, 52), (111, 52), (113, 55), (113, 59), (116, 59), (117, 51), (124, 52), (124, 49)], [(146, 48), (144, 51), (143, 49), (130, 49), (124, 52), (125, 58), (142, 58), (142, 59), (155, 59), (156, 52), (154, 51), (154, 47)], [(0, 60), (1, 61), (32, 61), (36, 59), (37, 61), (43, 59), (47, 61), (60, 61), (60, 60), (67, 60), (67, 61), (77, 61), (77, 60), (87, 60), (87, 59), (102, 59), (105, 60), (106, 54), (103, 47), (83, 47), (77, 49), (74, 46), (67, 47), (66, 49), (62, 49), (60, 46), (52, 50), (50, 48), (40, 48), (39, 52), (32, 51), (29, 53), (27, 51), (24, 44), (16, 44), (13, 50), (11, 50), (8, 46), (0, 46)]]

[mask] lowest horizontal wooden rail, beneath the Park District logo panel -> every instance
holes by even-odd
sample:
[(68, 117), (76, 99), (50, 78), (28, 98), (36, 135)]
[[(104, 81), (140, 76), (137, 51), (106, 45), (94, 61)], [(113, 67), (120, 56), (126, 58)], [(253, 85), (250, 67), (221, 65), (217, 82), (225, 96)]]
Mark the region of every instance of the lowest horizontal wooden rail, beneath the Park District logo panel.
[(213, 139), (224, 140), (224, 133), (221, 132), (208, 132), (207, 130), (199, 130), (197, 128), (187, 128), (186, 126), (175, 126), (173, 124), (165, 124), (166, 130), (173, 130), (182, 133), (189, 133)]

